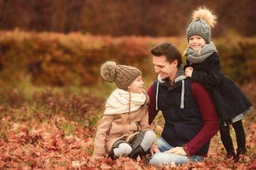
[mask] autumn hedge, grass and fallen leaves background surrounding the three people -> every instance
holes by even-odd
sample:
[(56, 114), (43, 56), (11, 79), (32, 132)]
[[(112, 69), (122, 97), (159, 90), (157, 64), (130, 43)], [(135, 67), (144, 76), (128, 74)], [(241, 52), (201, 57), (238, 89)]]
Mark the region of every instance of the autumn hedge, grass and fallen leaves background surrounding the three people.
[[(254, 1), (1, 0), (0, 169), (155, 169), (149, 156), (90, 160), (115, 88), (100, 79), (99, 67), (107, 60), (139, 67), (148, 88), (157, 77), (149, 49), (171, 42), (183, 53), (190, 14), (202, 5), (218, 15), (212, 40), (222, 71), (255, 107)], [(162, 169), (255, 169), (254, 113), (243, 120), (248, 153), (239, 163), (224, 160), (217, 134), (204, 163)], [(152, 127), (161, 133), (162, 115)]]

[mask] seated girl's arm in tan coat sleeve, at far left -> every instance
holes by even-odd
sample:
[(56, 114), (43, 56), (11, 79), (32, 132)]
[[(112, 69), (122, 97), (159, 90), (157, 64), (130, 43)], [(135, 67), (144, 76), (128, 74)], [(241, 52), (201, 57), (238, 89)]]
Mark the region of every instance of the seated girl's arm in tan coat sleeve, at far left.
[(102, 121), (96, 132), (94, 139), (94, 151), (93, 157), (104, 157), (105, 156), (105, 139), (107, 136), (108, 128), (113, 121), (113, 115), (103, 115)]

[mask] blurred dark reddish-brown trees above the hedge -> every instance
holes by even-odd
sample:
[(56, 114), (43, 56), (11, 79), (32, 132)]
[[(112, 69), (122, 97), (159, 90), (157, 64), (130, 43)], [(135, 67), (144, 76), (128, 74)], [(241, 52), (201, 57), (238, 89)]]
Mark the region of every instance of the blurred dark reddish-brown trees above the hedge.
[(218, 15), (213, 35), (256, 34), (254, 0), (0, 0), (0, 29), (176, 36), (200, 6)]

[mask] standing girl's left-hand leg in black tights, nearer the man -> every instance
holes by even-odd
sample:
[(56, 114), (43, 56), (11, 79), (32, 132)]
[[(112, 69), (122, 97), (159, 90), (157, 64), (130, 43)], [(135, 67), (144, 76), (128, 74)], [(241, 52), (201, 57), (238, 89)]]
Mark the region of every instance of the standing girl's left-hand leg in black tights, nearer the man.
[(224, 148), (227, 151), (227, 158), (233, 157), (236, 159), (236, 154), (233, 149), (233, 142), (230, 136), (230, 126), (220, 126), (220, 133), (221, 133), (221, 141), (224, 145)]

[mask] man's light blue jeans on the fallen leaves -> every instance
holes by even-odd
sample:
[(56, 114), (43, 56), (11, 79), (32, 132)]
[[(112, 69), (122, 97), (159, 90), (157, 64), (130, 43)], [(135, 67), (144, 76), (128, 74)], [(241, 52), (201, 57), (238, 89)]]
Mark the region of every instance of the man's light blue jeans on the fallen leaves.
[(149, 161), (149, 164), (154, 164), (156, 166), (160, 166), (161, 164), (171, 165), (172, 162), (175, 163), (176, 166), (179, 164), (187, 164), (189, 161), (192, 162), (203, 162), (203, 157), (192, 155), (190, 159), (187, 156), (177, 155), (177, 154), (167, 154), (163, 153), (164, 151), (169, 151), (172, 147), (166, 142), (165, 139), (160, 137), (157, 139), (157, 146), (160, 150), (160, 153), (154, 154)]

